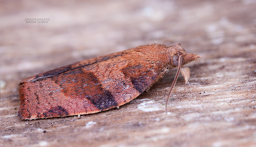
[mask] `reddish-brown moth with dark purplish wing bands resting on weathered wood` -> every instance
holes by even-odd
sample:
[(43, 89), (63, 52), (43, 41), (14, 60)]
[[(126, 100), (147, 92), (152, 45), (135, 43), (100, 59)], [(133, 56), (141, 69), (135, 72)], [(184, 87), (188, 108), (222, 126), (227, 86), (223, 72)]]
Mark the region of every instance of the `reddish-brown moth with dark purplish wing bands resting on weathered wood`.
[(150, 44), (46, 71), (19, 84), (18, 116), (64, 117), (116, 108), (149, 90), (169, 69), (178, 67), (172, 90), (179, 72), (187, 83), (190, 70), (183, 65), (198, 57), (186, 53), (180, 44)]

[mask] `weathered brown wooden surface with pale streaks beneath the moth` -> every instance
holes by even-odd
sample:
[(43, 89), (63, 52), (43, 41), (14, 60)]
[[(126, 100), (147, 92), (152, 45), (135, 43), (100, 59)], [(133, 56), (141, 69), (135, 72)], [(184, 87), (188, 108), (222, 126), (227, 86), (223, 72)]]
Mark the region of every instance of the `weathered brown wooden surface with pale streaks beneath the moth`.
[[(0, 146), (155, 147), (256, 145), (256, 1), (0, 1)], [(50, 18), (26, 23), (25, 18)], [(19, 82), (139, 45), (176, 42), (202, 57), (101, 113), (23, 121)]]

